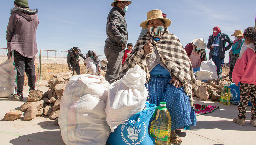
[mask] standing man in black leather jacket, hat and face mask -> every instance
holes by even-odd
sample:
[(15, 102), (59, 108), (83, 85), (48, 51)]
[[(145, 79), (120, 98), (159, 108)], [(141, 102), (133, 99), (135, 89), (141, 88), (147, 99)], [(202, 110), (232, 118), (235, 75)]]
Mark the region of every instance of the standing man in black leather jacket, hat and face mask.
[(129, 0), (114, 0), (113, 8), (107, 17), (107, 40), (105, 41), (105, 56), (107, 58), (107, 71), (105, 79), (115, 82), (122, 67), (124, 49), (128, 40), (127, 25), (124, 18), (128, 10)]

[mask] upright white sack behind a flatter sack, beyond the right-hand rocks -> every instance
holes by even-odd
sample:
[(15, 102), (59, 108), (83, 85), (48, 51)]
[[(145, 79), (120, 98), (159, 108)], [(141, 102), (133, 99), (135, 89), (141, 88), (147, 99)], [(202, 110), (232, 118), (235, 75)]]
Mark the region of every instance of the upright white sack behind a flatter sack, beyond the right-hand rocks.
[(217, 80), (217, 78), (218, 78), (217, 71), (216, 71), (217, 68), (212, 59), (210, 59), (208, 61), (202, 61), (201, 66), (200, 66), (200, 71), (201, 70), (207, 70), (207, 71), (213, 72), (211, 77), (212, 77), (212, 79)]

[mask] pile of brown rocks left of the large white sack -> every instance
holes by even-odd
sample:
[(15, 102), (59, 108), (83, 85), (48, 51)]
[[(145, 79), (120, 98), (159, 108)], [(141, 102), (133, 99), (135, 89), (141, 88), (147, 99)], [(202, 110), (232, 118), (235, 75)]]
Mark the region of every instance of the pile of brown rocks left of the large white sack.
[(40, 90), (30, 91), (26, 103), (21, 105), (21, 111), (11, 110), (5, 114), (4, 120), (13, 121), (26, 111), (24, 120), (32, 120), (38, 116), (49, 116), (50, 119), (57, 122), (60, 114), (60, 102), (68, 80), (73, 72), (53, 74), (53, 78), (48, 81), (48, 91), (43, 94)]

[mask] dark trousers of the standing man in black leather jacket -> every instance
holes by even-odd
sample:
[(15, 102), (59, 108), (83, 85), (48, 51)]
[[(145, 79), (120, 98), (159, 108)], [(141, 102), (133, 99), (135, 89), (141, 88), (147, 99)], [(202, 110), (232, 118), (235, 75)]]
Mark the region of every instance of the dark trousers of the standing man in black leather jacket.
[(119, 73), (122, 68), (124, 50), (105, 48), (105, 56), (107, 58), (107, 71), (105, 79), (111, 84), (119, 77)]

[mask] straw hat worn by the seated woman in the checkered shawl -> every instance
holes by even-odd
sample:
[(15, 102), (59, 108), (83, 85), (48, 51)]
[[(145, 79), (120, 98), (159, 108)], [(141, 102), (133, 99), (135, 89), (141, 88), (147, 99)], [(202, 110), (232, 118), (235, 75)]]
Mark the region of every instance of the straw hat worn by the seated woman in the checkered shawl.
[(163, 14), (162, 14), (162, 11), (161, 10), (151, 10), (147, 13), (147, 20), (146, 21), (143, 21), (141, 24), (140, 24), (140, 27), (144, 28), (144, 29), (147, 29), (148, 26), (147, 26), (147, 23), (149, 20), (153, 20), (153, 19), (162, 19), (164, 20), (165, 22), (165, 27), (168, 27), (171, 25), (171, 20), (170, 19), (167, 19), (167, 18), (163, 18)]

